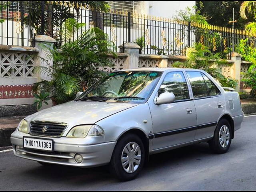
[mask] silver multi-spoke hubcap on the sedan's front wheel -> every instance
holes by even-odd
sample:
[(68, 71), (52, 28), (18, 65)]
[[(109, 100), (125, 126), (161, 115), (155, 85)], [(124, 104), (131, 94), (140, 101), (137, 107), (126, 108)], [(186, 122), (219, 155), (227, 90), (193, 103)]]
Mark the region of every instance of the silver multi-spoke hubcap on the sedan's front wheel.
[(128, 143), (122, 152), (121, 162), (127, 173), (135, 172), (141, 160), (140, 146), (135, 142)]

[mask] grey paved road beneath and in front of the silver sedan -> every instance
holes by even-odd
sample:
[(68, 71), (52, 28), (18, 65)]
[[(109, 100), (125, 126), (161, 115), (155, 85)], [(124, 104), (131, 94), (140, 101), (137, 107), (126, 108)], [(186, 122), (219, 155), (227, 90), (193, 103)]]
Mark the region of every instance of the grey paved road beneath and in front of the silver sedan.
[(46, 168), (0, 152), (0, 190), (256, 190), (256, 116), (244, 118), (226, 154), (208, 144), (155, 154), (136, 180), (119, 182), (105, 167)]

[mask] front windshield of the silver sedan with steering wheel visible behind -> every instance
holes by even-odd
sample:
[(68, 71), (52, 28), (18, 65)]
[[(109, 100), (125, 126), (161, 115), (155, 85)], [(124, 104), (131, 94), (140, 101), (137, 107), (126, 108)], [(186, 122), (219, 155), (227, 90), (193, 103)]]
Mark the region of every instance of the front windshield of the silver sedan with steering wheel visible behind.
[(112, 72), (83, 92), (76, 101), (144, 102), (161, 74), (158, 71)]

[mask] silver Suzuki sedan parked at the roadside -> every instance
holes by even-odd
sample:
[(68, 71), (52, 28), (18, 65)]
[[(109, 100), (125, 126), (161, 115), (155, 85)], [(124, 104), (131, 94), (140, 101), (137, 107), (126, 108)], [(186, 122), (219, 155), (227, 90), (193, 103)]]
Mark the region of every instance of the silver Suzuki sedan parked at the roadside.
[(112, 72), (75, 100), (24, 118), (11, 136), (14, 155), (45, 166), (108, 164), (131, 180), (150, 154), (199, 142), (222, 154), (244, 117), (229, 90), (203, 70)]

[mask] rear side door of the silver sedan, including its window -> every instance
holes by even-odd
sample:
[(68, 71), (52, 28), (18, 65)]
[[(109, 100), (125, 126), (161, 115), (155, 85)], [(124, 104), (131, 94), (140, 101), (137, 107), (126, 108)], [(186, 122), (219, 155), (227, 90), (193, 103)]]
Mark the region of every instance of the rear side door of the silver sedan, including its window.
[(191, 84), (198, 128), (195, 139), (211, 137), (219, 117), (224, 113), (225, 98), (217, 86), (199, 71), (186, 71)]

